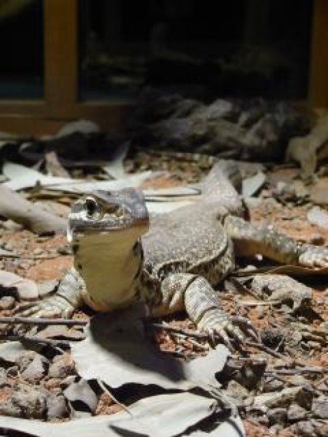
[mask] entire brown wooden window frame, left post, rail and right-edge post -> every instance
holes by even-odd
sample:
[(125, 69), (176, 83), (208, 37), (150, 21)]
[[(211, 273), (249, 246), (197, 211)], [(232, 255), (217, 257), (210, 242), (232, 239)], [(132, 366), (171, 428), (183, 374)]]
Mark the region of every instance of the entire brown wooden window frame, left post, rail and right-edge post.
[[(328, 107), (328, 1), (313, 0), (308, 103)], [(90, 119), (118, 131), (131, 101), (78, 100), (78, 0), (43, 0), (44, 98), (0, 101), (0, 131), (55, 133), (68, 121)]]

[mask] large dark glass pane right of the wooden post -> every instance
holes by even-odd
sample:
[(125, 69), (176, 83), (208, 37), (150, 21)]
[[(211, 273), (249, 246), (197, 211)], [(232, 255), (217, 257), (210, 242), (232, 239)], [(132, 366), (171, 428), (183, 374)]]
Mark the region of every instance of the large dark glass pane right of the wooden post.
[(80, 98), (142, 84), (304, 98), (312, 0), (82, 0)]

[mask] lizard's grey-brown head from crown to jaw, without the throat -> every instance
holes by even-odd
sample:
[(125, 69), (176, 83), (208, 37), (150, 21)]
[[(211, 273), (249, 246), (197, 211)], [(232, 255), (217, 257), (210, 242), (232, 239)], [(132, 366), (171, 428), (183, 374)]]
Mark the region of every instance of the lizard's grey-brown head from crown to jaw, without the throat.
[(73, 203), (67, 239), (72, 243), (83, 237), (105, 237), (117, 233), (138, 239), (148, 230), (148, 225), (148, 210), (141, 191), (134, 188), (112, 193), (97, 191)]

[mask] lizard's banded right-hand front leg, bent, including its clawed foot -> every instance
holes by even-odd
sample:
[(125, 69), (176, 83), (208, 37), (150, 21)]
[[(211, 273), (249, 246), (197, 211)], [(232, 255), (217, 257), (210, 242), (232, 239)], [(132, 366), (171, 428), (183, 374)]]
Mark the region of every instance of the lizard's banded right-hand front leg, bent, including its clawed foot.
[(234, 323), (251, 328), (245, 320), (234, 320), (234, 323), (229, 320), (220, 309), (218, 293), (202, 276), (189, 273), (171, 274), (162, 282), (161, 292), (162, 303), (150, 309), (152, 317), (185, 309), (199, 330), (218, 334), (227, 346), (230, 346), (227, 334), (238, 342), (243, 341), (243, 334)]

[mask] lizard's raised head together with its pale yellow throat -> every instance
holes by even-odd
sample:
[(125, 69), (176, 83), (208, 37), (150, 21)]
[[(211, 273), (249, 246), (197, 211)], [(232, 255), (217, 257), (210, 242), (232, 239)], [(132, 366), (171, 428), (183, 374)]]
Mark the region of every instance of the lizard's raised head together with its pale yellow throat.
[(83, 299), (97, 311), (131, 302), (142, 266), (140, 237), (148, 230), (141, 191), (97, 191), (73, 203), (67, 239), (74, 267), (85, 281)]

